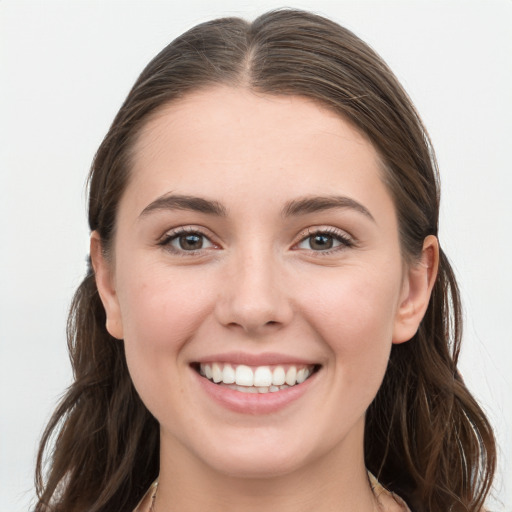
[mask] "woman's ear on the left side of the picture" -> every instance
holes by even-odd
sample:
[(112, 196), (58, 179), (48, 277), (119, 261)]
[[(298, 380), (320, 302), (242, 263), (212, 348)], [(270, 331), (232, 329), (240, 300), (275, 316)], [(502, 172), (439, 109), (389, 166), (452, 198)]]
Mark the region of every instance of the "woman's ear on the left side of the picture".
[(117, 298), (112, 262), (108, 261), (103, 251), (101, 237), (97, 231), (91, 234), (91, 261), (94, 268), (96, 287), (107, 317), (106, 328), (111, 336), (123, 339), (121, 309)]

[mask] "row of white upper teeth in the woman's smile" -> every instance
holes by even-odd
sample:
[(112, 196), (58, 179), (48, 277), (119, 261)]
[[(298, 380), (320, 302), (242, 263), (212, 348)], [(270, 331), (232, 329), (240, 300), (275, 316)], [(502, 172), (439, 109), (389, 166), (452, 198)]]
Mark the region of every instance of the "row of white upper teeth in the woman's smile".
[(294, 386), (304, 382), (312, 372), (312, 367), (283, 366), (270, 368), (257, 366), (251, 368), (240, 364), (236, 367), (223, 363), (200, 365), (201, 375), (218, 384), (236, 384), (237, 386)]

